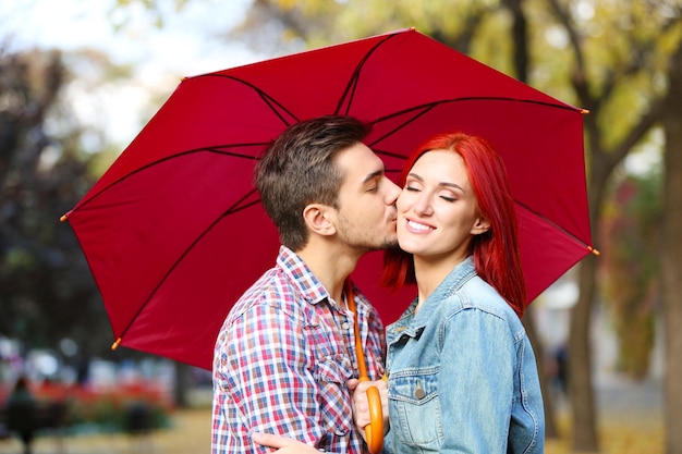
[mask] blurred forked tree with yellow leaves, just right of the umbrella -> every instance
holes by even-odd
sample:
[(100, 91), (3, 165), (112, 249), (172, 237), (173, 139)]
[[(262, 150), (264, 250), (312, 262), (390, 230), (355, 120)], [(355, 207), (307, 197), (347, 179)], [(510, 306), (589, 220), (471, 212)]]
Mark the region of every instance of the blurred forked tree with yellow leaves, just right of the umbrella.
[[(577, 103), (590, 110), (585, 116), (587, 184), (592, 225), (598, 229), (613, 171), (661, 120), (667, 62), (680, 46), (682, 2), (582, 3), (592, 5), (587, 12), (561, 0), (549, 3), (547, 20), (557, 21), (567, 34), (572, 54), (568, 73)], [(582, 261), (579, 302), (571, 314), (572, 447), (580, 452), (599, 449), (589, 347), (596, 265), (595, 256)]]

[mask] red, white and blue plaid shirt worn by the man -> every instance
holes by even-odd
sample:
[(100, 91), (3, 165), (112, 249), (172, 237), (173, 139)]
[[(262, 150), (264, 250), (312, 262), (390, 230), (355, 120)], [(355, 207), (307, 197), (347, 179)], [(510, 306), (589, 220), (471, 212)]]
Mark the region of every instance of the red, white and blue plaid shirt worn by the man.
[[(383, 326), (355, 293), (367, 372), (383, 375)], [(282, 246), (228, 315), (214, 354), (212, 454), (268, 453), (253, 432), (279, 433), (321, 451), (366, 451), (346, 381), (357, 378), (353, 312), (339, 307)]]

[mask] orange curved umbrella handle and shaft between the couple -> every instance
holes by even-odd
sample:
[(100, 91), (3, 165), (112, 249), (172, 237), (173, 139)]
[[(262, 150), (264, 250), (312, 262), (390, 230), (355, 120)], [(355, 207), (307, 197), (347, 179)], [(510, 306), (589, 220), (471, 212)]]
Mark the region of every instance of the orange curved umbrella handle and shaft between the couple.
[[(353, 284), (351, 280), (345, 282), (345, 298), (349, 309), (355, 312), (355, 297), (353, 295)], [(360, 336), (360, 326), (357, 314), (355, 312), (355, 357), (357, 358), (357, 371), (360, 381), (368, 381), (367, 365), (363, 352), (363, 342)], [(372, 454), (379, 454), (383, 449), (383, 410), (381, 409), (381, 395), (377, 386), (367, 389), (367, 403), (369, 404), (369, 424), (365, 426), (367, 447)]]

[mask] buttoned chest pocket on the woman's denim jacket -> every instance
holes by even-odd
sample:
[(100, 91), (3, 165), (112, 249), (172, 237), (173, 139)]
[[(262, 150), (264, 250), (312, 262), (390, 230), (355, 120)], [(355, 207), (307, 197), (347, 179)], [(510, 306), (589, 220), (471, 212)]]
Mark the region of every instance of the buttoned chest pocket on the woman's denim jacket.
[[(438, 450), (443, 438), (438, 371), (389, 378), (391, 432), (400, 443)], [(395, 413), (393, 413), (395, 412)]]

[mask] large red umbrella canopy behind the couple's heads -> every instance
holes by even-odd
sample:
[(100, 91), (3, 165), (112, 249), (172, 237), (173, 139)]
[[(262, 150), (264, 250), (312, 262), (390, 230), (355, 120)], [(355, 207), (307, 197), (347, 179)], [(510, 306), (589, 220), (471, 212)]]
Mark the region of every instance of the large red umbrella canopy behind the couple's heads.
[[(434, 133), (486, 137), (503, 157), (529, 298), (590, 250), (583, 111), (414, 29), (184, 78), (65, 214), (122, 345), (210, 369), (232, 304), (275, 263), (279, 238), (253, 168), (288, 125), (348, 114), (398, 172)], [(414, 290), (355, 283), (391, 322)]]

